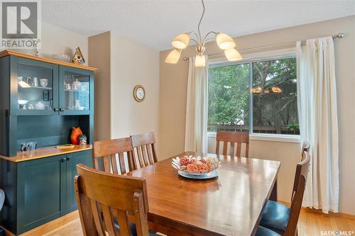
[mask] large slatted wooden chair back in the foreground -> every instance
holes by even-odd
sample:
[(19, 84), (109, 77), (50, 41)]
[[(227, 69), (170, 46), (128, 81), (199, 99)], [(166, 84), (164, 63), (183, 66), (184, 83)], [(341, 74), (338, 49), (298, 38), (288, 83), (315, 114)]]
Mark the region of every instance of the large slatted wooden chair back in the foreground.
[(84, 235), (131, 235), (128, 215), (133, 215), (130, 220), (136, 224), (137, 235), (148, 235), (146, 179), (78, 164), (75, 194)]

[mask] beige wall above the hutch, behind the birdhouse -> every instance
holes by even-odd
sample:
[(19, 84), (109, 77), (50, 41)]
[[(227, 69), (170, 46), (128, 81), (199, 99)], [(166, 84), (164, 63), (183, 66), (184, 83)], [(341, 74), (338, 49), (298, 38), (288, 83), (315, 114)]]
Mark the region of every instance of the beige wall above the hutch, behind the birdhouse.
[(58, 26), (50, 25), (42, 22), (42, 47), (38, 52), (41, 57), (52, 58), (54, 53), (64, 53), (72, 56), (75, 53), (75, 48), (80, 47), (85, 64), (88, 64), (89, 55), (87, 49), (87, 36), (79, 33), (65, 30)]

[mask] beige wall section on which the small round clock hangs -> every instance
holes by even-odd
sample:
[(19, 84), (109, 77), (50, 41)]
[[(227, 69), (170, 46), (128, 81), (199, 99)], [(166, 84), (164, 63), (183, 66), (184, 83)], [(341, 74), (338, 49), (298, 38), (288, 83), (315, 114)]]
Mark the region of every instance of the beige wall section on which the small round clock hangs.
[[(137, 84), (146, 99), (133, 99)], [(111, 137), (159, 130), (159, 52), (111, 33)]]

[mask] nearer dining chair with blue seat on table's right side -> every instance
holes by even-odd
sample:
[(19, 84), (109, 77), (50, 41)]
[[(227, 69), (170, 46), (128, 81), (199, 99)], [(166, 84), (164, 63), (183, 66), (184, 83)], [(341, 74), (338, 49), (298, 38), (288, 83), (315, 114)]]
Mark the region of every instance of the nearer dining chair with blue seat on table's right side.
[(263, 211), (260, 225), (278, 232), (283, 236), (297, 235), (297, 221), (300, 216), (303, 193), (310, 169), (310, 154), (303, 152), (303, 160), (296, 166), (295, 182), (291, 197), (291, 206), (288, 208), (282, 203), (268, 201)]

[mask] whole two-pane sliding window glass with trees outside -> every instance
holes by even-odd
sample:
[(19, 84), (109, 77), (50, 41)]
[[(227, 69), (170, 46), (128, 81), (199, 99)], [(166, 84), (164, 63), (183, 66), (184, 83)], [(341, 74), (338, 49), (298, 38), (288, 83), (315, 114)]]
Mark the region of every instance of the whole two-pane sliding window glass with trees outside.
[(210, 64), (207, 131), (299, 135), (295, 57)]

